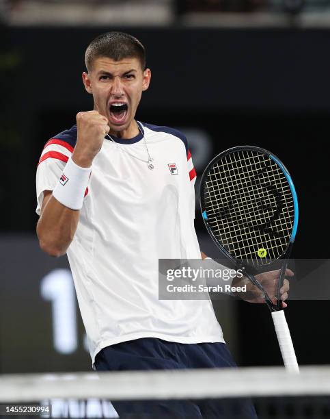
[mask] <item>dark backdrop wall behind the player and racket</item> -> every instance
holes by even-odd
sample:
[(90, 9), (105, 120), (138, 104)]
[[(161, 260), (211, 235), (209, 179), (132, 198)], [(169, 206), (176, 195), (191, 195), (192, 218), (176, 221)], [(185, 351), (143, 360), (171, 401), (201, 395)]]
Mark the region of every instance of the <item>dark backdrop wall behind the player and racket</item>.
[[(53, 348), (40, 281), (67, 265), (65, 257), (51, 259), (38, 249), (35, 174), (46, 140), (74, 125), (77, 112), (92, 109), (81, 81), (83, 54), (92, 38), (111, 29), (128, 31), (147, 48), (152, 84), (137, 118), (200, 130), (208, 147), (198, 146), (197, 132), (191, 142), (197, 175), (228, 147), (272, 151), (299, 197), (293, 257), (329, 257), (330, 30), (2, 28), (0, 372), (90, 369), (81, 323), (77, 351)], [(196, 227), (202, 249), (217, 257), (198, 211)], [(215, 305), (240, 366), (281, 364), (265, 306)], [(289, 301), (286, 316), (301, 364), (330, 363), (329, 309), (329, 301)]]

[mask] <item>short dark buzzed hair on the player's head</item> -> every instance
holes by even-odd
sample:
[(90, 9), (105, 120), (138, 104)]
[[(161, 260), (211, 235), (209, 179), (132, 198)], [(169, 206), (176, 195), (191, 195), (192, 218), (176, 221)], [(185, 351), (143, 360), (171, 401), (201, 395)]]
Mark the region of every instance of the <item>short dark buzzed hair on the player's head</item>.
[(137, 58), (142, 70), (146, 69), (146, 49), (137, 38), (124, 32), (106, 32), (90, 42), (85, 52), (87, 71), (92, 70), (94, 61), (100, 57), (115, 61)]

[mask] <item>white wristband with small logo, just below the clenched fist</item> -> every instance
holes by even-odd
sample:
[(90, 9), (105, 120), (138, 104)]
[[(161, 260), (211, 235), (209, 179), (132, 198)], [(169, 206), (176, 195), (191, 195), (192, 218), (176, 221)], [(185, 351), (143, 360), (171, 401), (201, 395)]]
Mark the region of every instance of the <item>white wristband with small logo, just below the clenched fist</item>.
[(53, 190), (53, 196), (71, 210), (81, 210), (91, 171), (92, 168), (77, 166), (70, 157)]

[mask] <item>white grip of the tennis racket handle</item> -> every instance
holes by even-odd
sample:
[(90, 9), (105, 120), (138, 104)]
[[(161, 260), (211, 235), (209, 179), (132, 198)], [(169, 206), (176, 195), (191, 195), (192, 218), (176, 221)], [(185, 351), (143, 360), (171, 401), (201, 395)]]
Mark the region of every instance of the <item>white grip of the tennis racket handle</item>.
[(278, 312), (272, 312), (273, 322), (279, 342), (279, 348), (281, 349), (284, 366), (289, 372), (299, 372), (299, 366), (297, 362), (296, 354), (294, 353), (294, 347), (290, 335), (288, 323), (286, 322), (286, 316), (283, 310)]

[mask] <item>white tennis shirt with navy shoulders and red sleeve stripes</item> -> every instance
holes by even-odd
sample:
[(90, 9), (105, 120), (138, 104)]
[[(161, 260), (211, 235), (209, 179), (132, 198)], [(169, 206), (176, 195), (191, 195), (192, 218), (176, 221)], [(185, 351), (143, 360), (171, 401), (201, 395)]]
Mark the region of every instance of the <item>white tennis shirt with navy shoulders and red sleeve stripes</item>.
[[(104, 140), (67, 255), (92, 362), (105, 346), (139, 338), (224, 342), (209, 300), (159, 300), (159, 259), (200, 259), (195, 169), (180, 131), (141, 124), (130, 140)], [(46, 143), (36, 176), (40, 214), (72, 155), (77, 127)]]

